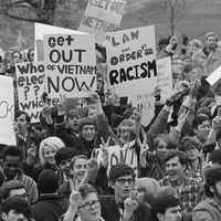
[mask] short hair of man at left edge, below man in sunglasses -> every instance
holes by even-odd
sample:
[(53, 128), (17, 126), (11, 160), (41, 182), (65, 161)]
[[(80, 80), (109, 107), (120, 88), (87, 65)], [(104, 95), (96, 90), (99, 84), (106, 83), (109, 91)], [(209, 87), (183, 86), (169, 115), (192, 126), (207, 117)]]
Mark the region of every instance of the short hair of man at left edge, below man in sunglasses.
[(6, 200), (11, 190), (24, 189), (24, 185), (19, 180), (6, 181), (0, 188), (0, 197)]

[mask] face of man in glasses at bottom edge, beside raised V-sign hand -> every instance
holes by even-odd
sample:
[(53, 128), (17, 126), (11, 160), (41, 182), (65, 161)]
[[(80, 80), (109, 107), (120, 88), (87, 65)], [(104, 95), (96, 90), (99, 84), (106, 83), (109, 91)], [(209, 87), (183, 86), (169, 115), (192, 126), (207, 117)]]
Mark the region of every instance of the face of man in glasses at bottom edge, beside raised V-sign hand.
[(82, 206), (78, 208), (78, 214), (82, 221), (101, 220), (101, 204), (97, 196), (91, 192), (82, 200)]

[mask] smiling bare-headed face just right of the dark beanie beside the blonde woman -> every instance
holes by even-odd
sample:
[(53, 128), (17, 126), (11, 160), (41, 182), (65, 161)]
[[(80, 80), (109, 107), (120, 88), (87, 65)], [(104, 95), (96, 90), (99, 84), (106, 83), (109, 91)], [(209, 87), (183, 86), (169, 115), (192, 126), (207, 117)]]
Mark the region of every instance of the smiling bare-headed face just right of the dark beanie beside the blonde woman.
[(74, 164), (74, 176), (77, 180), (82, 181), (87, 171), (87, 159), (78, 158)]

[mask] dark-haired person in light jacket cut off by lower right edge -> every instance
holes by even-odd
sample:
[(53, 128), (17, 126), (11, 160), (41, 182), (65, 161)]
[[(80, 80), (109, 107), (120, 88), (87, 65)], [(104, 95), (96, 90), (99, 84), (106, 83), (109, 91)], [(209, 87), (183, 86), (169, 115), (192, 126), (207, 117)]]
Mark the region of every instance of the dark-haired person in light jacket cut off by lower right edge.
[(206, 170), (204, 193), (207, 199), (196, 206), (193, 221), (221, 220), (221, 166), (212, 166)]

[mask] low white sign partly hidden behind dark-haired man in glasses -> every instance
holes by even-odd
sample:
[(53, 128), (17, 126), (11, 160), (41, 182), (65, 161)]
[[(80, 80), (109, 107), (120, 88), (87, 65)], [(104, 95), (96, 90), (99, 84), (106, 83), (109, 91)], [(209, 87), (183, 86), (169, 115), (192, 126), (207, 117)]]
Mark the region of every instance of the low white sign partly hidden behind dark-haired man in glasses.
[[(135, 148), (135, 140), (130, 141), (128, 145), (124, 147), (119, 146), (110, 146), (108, 147), (108, 169), (107, 173), (112, 166), (117, 165), (119, 162), (127, 164), (133, 167), (137, 173), (137, 154)], [(95, 149), (93, 152), (93, 157), (97, 159), (98, 162), (102, 161), (102, 149)]]

